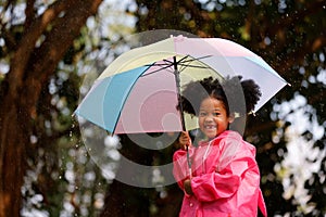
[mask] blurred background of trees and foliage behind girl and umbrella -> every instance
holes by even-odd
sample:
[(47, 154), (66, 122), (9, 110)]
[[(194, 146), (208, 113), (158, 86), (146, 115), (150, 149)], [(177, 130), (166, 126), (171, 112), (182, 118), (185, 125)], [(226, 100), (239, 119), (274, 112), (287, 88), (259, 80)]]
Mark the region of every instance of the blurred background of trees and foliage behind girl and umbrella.
[[(130, 49), (126, 38), (153, 29), (236, 41), (291, 84), (250, 116), (244, 138), (269, 216), (326, 216), (324, 0), (1, 0), (0, 216), (178, 215), (183, 192), (162, 186), (160, 170), (153, 189), (114, 179), (121, 156), (162, 165), (174, 145), (147, 150), (80, 130), (73, 116), (79, 94)], [(103, 143), (98, 158), (87, 138)]]

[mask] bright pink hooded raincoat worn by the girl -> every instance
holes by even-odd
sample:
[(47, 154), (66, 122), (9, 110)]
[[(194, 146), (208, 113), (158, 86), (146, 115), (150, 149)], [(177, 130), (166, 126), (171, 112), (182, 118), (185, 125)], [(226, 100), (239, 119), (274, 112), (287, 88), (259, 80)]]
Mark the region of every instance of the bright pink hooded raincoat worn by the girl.
[[(189, 179), (186, 151), (174, 153), (174, 177), (184, 190)], [(267, 216), (260, 190), (255, 148), (235, 131), (226, 130), (210, 142), (189, 149), (191, 188), (185, 192), (180, 217), (253, 217), (258, 207)]]

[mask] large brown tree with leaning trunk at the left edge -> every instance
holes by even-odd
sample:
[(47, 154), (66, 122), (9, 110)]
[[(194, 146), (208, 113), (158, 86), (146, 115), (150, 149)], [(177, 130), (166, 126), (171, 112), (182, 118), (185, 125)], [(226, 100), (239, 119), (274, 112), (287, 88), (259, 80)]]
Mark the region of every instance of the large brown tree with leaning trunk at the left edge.
[[(54, 1), (37, 10), (37, 1), (7, 1), (1, 10), (1, 35), (10, 55), (10, 69), (1, 80), (0, 107), (0, 216), (20, 216), (21, 187), (30, 137), (38, 120), (42, 90), (86, 20), (101, 0)], [(15, 5), (25, 7), (25, 20), (7, 18)]]

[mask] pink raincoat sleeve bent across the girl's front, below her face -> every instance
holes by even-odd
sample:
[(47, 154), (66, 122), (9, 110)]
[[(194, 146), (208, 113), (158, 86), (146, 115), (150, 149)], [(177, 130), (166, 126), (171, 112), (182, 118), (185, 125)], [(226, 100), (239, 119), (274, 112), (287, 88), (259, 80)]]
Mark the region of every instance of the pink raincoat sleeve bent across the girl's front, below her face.
[[(241, 141), (228, 138), (214, 145), (211, 158), (212, 166), (206, 174), (191, 179), (191, 189), (199, 201), (211, 202), (233, 196), (241, 182), (259, 184), (260, 175), (254, 161), (253, 150), (246, 149)], [(221, 149), (222, 154), (216, 154)], [(215, 152), (215, 153), (213, 153)]]

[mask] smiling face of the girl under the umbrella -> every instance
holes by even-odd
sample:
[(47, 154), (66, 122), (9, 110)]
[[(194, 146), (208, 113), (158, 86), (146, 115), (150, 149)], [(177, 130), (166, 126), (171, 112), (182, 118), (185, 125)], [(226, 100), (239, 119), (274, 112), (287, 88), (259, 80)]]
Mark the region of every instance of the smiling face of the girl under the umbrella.
[(213, 139), (226, 130), (233, 120), (234, 118), (227, 116), (223, 101), (206, 98), (201, 102), (199, 127), (209, 139)]

